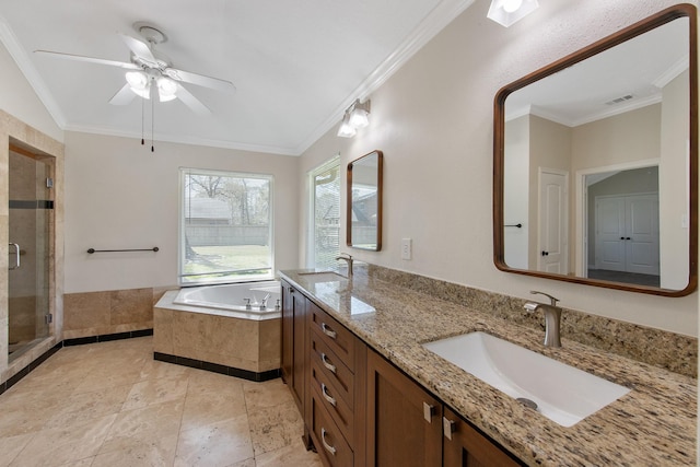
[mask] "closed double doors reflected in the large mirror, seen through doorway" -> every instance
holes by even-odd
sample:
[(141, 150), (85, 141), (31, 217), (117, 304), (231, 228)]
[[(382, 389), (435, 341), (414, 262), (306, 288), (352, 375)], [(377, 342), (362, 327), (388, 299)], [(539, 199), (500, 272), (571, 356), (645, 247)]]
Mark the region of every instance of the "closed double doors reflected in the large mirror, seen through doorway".
[(596, 198), (596, 268), (658, 276), (658, 195)]

